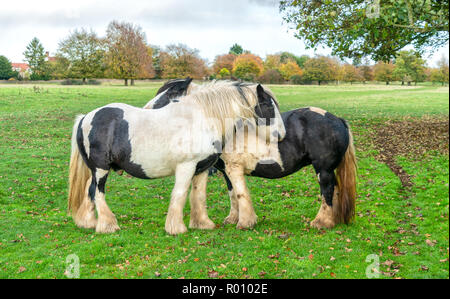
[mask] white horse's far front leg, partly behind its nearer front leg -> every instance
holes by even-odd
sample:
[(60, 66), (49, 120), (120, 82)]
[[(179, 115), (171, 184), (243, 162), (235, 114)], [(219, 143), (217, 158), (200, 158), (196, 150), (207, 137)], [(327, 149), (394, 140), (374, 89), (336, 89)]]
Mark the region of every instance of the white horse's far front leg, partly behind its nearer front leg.
[(213, 229), (216, 227), (214, 222), (208, 217), (206, 211), (206, 185), (208, 183), (208, 171), (194, 176), (191, 189), (191, 220), (190, 228)]

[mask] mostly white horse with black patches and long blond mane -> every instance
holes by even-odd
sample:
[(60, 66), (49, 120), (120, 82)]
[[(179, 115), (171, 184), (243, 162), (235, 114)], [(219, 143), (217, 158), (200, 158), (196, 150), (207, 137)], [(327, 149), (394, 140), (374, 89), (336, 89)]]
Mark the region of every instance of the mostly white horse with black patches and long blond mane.
[[(189, 186), (207, 179), (208, 168), (217, 162), (236, 123), (256, 123), (258, 117), (279, 115), (276, 103), (259, 101), (256, 87), (222, 84), (200, 87), (187, 96), (183, 92), (163, 93), (177, 103), (153, 110), (110, 104), (77, 117), (68, 205), (79, 227), (96, 228), (101, 233), (119, 229), (105, 202), (105, 184), (110, 170), (124, 170), (141, 179), (175, 175), (165, 229), (169, 234), (185, 232), (183, 208)], [(261, 107), (271, 109), (262, 111)], [(280, 139), (284, 137), (281, 116), (279, 127), (273, 126), (273, 130)], [(206, 213), (203, 195), (191, 196), (191, 207), (191, 228), (215, 227)]]

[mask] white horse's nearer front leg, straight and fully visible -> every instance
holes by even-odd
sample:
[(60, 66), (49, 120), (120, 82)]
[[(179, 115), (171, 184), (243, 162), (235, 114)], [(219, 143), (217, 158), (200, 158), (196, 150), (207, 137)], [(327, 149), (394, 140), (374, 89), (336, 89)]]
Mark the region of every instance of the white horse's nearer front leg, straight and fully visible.
[(187, 231), (183, 222), (183, 209), (186, 196), (195, 173), (195, 163), (183, 163), (175, 171), (175, 186), (172, 190), (169, 212), (167, 213), (166, 232), (170, 235), (182, 234)]

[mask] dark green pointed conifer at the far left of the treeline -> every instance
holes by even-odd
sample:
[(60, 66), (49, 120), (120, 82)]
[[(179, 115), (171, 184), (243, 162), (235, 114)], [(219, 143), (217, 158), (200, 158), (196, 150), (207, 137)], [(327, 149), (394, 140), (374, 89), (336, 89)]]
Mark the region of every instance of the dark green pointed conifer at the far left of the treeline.
[(33, 38), (27, 45), (25, 52), (25, 61), (31, 69), (31, 80), (48, 80), (50, 79), (49, 69), (47, 65), (44, 46), (38, 38)]

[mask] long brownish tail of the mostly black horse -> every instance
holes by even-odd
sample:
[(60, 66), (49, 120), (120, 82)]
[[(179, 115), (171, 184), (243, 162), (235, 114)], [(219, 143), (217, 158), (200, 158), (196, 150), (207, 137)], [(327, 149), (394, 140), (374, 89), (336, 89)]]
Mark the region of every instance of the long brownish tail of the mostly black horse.
[(335, 217), (338, 223), (349, 224), (355, 217), (357, 162), (353, 134), (347, 123), (345, 125), (348, 129), (349, 143), (347, 151), (336, 170), (338, 194)]

